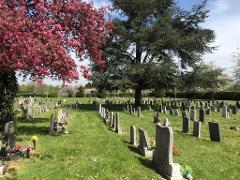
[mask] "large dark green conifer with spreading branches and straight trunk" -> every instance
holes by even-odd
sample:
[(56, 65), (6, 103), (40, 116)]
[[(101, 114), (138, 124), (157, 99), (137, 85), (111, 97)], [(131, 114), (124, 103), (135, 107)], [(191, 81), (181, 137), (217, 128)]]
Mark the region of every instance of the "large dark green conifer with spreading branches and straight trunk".
[(208, 17), (206, 1), (189, 11), (173, 0), (112, 0), (112, 4), (118, 15), (104, 54), (110, 64), (104, 73), (109, 71), (115, 81), (127, 76), (136, 105), (142, 89), (174, 85), (178, 68), (193, 66), (214, 49), (210, 46), (214, 32), (201, 27)]

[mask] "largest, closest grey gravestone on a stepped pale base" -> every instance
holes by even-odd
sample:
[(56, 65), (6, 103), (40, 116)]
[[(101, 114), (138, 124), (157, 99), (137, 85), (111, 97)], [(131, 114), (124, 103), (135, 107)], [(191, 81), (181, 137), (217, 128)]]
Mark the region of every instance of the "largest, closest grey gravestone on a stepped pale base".
[(180, 165), (173, 163), (173, 130), (156, 124), (156, 150), (152, 162), (166, 179), (182, 180)]

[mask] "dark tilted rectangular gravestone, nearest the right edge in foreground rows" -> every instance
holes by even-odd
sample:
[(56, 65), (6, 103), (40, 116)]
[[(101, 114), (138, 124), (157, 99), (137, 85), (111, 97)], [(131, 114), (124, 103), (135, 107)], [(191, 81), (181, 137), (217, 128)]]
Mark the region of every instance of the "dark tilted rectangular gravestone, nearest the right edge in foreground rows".
[(209, 134), (211, 141), (221, 142), (220, 126), (217, 122), (208, 122)]

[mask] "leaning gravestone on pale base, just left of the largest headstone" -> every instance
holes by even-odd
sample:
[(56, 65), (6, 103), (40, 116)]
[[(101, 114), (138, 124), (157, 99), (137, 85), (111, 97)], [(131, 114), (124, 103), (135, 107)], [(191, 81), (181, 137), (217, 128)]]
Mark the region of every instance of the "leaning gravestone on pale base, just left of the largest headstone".
[(152, 157), (153, 151), (151, 149), (147, 131), (143, 129), (138, 129), (138, 131), (139, 131), (138, 150), (140, 154), (143, 155), (144, 157)]

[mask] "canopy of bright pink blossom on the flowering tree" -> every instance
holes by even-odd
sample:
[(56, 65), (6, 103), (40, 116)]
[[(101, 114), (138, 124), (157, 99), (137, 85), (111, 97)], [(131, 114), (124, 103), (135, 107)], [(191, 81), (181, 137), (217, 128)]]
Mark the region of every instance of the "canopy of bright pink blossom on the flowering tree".
[(79, 0), (0, 0), (1, 71), (78, 79), (71, 52), (104, 64), (102, 48), (111, 30), (104, 14), (104, 8)]

